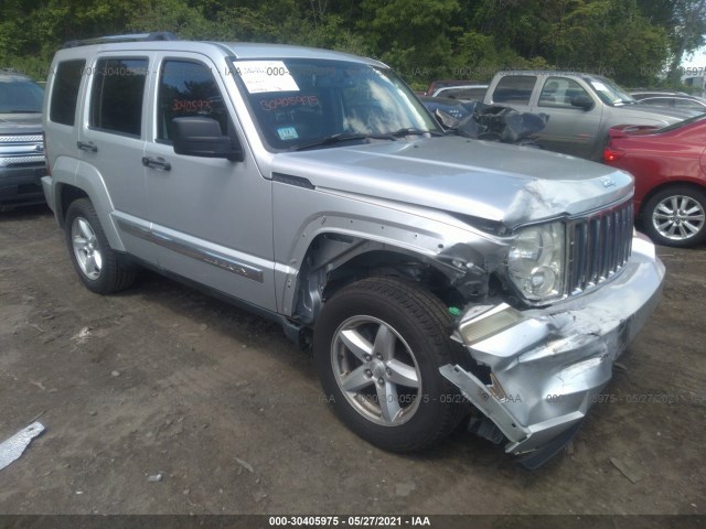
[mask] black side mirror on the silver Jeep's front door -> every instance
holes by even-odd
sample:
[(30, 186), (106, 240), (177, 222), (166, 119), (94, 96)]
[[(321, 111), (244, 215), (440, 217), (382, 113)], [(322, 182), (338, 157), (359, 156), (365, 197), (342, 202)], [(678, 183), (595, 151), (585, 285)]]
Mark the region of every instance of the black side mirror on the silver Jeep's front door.
[(223, 136), (215, 119), (201, 116), (174, 118), (171, 132), (176, 154), (225, 158), (233, 162), (242, 162), (244, 159), (240, 145), (232, 145), (232, 139)]

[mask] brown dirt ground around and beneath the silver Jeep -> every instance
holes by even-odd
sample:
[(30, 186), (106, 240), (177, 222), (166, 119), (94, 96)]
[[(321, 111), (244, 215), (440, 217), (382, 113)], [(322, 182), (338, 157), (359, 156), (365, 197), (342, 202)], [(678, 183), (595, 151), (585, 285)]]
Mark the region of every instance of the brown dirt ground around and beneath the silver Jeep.
[(530, 472), (463, 433), (372, 447), (278, 326), (151, 273), (95, 295), (49, 209), (4, 213), (0, 442), (46, 431), (0, 471), (0, 514), (704, 515), (706, 247), (660, 255), (663, 301), (608, 402)]

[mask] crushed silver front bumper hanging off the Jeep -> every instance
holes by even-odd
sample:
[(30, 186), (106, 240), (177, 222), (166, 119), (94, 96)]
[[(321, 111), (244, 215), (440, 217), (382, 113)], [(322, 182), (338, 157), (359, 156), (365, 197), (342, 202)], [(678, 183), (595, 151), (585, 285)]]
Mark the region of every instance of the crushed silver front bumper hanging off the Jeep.
[(619, 277), (590, 293), (544, 309), (468, 310), (453, 338), (485, 367), (474, 375), (446, 365), (441, 375), (502, 431), (506, 452), (542, 452), (546, 460), (600, 401), (616, 358), (654, 311), (663, 279), (654, 246), (638, 234)]

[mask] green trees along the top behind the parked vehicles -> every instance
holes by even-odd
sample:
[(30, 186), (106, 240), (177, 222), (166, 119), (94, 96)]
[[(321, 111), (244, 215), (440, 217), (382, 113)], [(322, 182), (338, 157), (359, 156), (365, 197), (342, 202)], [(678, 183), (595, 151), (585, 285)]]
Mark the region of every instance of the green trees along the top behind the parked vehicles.
[[(327, 47), (379, 58), (409, 84), (503, 68), (675, 85), (704, 44), (706, 0), (0, 0), (0, 67), (46, 76), (66, 41), (182, 39)], [(706, 67), (706, 65), (704, 65)]]

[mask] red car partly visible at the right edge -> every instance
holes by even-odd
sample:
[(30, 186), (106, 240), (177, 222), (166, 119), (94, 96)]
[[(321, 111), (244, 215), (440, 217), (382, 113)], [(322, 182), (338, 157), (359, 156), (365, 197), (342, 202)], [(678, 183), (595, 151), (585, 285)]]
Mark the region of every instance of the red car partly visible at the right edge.
[(609, 131), (603, 161), (635, 179), (635, 214), (659, 245), (706, 239), (706, 115), (655, 129)]

